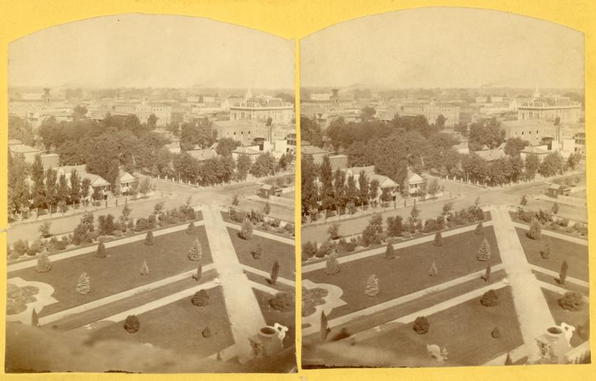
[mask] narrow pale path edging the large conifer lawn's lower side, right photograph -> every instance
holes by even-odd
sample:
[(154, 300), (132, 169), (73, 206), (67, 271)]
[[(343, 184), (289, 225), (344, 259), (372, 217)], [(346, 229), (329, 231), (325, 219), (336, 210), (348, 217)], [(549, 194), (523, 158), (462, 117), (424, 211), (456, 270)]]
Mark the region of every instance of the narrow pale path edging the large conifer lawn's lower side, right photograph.
[[(503, 268), (502, 264), (498, 264), (496, 266), (492, 266), (491, 271), (495, 273)], [(407, 303), (409, 301), (414, 301), (417, 298), (422, 298), (423, 296), (427, 296), (431, 293), (436, 293), (438, 291), (443, 291), (446, 288), (451, 288), (457, 286), (461, 283), (466, 283), (467, 281), (471, 281), (473, 279), (478, 279), (480, 276), (484, 274), (485, 270), (476, 271), (475, 273), (468, 274), (466, 276), (461, 276), (460, 278), (453, 279), (451, 281), (447, 281), (436, 286), (431, 286), (429, 288), (424, 288), (424, 290), (416, 291), (415, 293), (409, 293), (408, 295), (400, 296), (399, 298), (392, 299), (390, 301), (386, 301), (384, 303), (376, 304), (375, 306), (370, 306), (368, 308), (364, 308), (362, 310), (357, 310), (352, 313), (347, 313), (342, 315), (338, 318), (331, 319), (328, 321), (329, 327), (335, 327), (340, 324), (348, 323), (350, 320), (354, 320), (360, 318), (362, 316), (372, 315), (373, 313), (380, 312), (382, 310), (387, 310), (388, 308), (393, 308), (395, 306), (399, 306), (400, 304)], [(498, 287), (498, 286), (495, 286)], [(320, 329), (320, 322), (313, 321), (311, 325), (307, 328), (303, 328), (302, 335), (310, 335), (313, 333), (317, 333)]]

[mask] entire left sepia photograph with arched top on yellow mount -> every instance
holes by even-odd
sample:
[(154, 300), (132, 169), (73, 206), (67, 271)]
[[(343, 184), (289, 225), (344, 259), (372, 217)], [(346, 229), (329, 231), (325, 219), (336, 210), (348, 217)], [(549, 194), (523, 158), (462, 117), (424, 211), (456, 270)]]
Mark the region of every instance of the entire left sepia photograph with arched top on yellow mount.
[(9, 45), (6, 372), (296, 372), (294, 47), (142, 14)]

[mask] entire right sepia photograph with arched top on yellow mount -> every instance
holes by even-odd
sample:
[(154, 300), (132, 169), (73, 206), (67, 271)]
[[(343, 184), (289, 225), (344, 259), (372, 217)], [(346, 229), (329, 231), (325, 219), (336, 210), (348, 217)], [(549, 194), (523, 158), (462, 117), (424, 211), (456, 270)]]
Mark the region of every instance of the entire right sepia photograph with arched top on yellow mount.
[(302, 362), (590, 362), (584, 34), (425, 8), (300, 42)]

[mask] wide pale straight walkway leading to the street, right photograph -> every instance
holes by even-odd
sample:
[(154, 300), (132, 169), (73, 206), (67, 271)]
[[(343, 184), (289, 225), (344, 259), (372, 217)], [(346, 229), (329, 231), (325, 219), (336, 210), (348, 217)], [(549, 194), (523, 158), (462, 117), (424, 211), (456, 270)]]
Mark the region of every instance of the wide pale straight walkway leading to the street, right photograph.
[(555, 325), (555, 320), (526, 259), (509, 212), (493, 207), (491, 216), (501, 261), (511, 284), (526, 355), (528, 360), (533, 361), (540, 356), (535, 338), (543, 334), (546, 328)]

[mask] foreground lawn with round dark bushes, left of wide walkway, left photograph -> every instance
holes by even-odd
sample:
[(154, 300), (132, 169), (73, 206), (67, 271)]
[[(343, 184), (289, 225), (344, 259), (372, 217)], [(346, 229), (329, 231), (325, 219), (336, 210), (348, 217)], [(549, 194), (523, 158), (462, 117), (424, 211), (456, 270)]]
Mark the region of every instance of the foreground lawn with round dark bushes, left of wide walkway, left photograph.
[[(197, 307), (192, 295), (166, 306), (137, 315), (140, 330), (128, 333), (124, 322), (105, 325), (90, 334), (90, 343), (101, 340), (127, 340), (150, 343), (175, 353), (207, 357), (234, 344), (221, 286), (209, 288), (209, 305)], [(211, 337), (202, 331), (209, 327)]]

